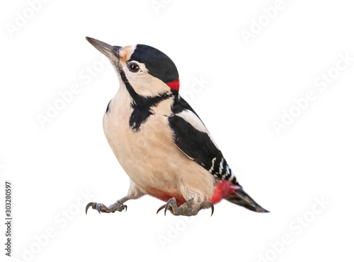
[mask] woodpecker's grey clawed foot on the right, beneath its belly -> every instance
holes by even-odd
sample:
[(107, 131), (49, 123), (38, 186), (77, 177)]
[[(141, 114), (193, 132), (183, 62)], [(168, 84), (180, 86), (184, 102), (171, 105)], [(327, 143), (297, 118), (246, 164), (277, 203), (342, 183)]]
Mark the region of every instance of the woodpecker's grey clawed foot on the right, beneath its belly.
[[(214, 205), (210, 201), (202, 201), (198, 206), (193, 208), (193, 198), (182, 204), (181, 206), (177, 206), (176, 203), (176, 198), (171, 198), (169, 201), (164, 206), (161, 206), (158, 210), (157, 213), (159, 213), (160, 210), (165, 209), (165, 215), (166, 211), (170, 210), (170, 212), (173, 215), (187, 215), (188, 217), (191, 215), (197, 215), (201, 209), (206, 209), (206, 208), (212, 208), (212, 213), (214, 213)], [(156, 214), (157, 214), (156, 213)]]

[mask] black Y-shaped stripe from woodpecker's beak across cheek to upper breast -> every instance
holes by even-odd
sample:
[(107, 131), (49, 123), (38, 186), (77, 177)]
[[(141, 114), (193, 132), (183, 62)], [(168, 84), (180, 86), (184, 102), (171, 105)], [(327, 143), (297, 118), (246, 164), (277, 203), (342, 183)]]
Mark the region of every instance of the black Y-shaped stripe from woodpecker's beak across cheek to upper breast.
[(122, 81), (125, 83), (125, 87), (127, 88), (128, 93), (132, 97), (132, 108), (133, 112), (130, 115), (129, 125), (130, 128), (134, 131), (139, 131), (139, 128), (145, 121), (147, 121), (148, 117), (153, 114), (151, 108), (158, 105), (159, 102), (166, 100), (167, 98), (177, 95), (178, 92), (175, 90), (171, 90), (169, 92), (163, 93), (156, 97), (144, 97), (142, 95), (138, 95), (132, 85), (130, 85), (127, 80), (127, 76), (125, 76), (124, 71), (121, 69), (118, 64), (118, 69), (120, 73), (120, 77)]

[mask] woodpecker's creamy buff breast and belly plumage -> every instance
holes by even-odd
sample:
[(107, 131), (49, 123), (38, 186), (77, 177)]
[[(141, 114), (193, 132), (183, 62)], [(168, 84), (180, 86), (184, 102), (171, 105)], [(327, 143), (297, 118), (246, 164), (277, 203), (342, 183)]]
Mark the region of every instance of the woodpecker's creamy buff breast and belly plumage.
[[(129, 126), (132, 98), (122, 86), (110, 102), (110, 111), (103, 117), (103, 129), (120, 165), (140, 190), (195, 198), (199, 203), (214, 191), (212, 175), (186, 157), (173, 142), (168, 117), (149, 116), (139, 131)], [(161, 105), (166, 107), (166, 105)]]

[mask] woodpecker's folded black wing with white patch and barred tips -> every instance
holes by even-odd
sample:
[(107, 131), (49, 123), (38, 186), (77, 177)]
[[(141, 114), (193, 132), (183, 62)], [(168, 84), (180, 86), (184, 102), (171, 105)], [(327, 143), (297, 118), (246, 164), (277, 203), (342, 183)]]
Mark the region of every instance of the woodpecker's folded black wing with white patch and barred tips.
[(185, 155), (207, 169), (217, 179), (238, 184), (232, 169), (198, 114), (181, 96), (178, 97), (173, 107), (173, 115), (169, 117), (169, 124), (173, 130), (176, 145)]

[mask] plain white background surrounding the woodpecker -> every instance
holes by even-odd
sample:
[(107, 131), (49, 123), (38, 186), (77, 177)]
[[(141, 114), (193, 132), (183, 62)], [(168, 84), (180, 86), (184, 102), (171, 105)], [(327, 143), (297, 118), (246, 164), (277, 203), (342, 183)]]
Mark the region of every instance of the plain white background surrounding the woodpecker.
[[(156, 2), (162, 6), (154, 9)], [(353, 257), (354, 61), (336, 71), (340, 54), (354, 57), (353, 6), (284, 0), (267, 20), (263, 8), (273, 6), (81, 0), (48, 1), (31, 13), (27, 1), (3, 1), (0, 196), (4, 181), (12, 181), (14, 261)], [(18, 13), (28, 17), (24, 25)], [(11, 33), (16, 19), (21, 26)], [(247, 43), (241, 32), (251, 32), (258, 19), (261, 32)], [(126, 213), (90, 209), (85, 215), (87, 202), (110, 205), (129, 187), (102, 128), (118, 80), (86, 36), (113, 45), (149, 44), (168, 54), (178, 67), (181, 94), (189, 96), (244, 189), (271, 213), (222, 201), (212, 218), (210, 210), (189, 220), (164, 217), (156, 215), (163, 203), (144, 196), (127, 202)], [(93, 65), (99, 70), (89, 78)], [(314, 80), (328, 71), (339, 73), (321, 91)], [(200, 78), (204, 88), (195, 85)], [(38, 116), (75, 84), (80, 92), (42, 127)], [(309, 90), (316, 100), (277, 135), (272, 122), (282, 123), (294, 99)]]

